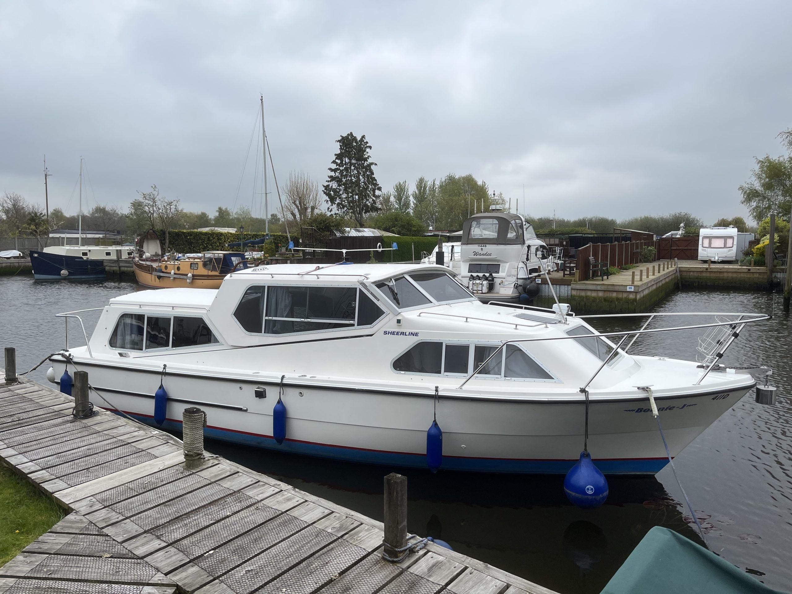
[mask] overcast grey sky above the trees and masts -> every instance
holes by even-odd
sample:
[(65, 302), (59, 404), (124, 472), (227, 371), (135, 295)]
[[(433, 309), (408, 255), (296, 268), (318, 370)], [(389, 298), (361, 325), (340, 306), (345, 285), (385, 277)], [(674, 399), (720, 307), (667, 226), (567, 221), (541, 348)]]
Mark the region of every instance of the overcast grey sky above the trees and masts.
[(790, 22), (786, 0), (5, 0), (0, 191), (43, 206), (47, 154), (50, 207), (76, 211), (82, 155), (86, 210), (151, 184), (250, 206), (261, 92), (281, 185), (323, 183), (352, 131), (383, 188), (472, 173), (531, 215), (712, 223), (746, 214), (753, 156), (783, 152)]

